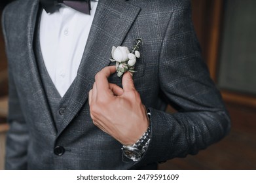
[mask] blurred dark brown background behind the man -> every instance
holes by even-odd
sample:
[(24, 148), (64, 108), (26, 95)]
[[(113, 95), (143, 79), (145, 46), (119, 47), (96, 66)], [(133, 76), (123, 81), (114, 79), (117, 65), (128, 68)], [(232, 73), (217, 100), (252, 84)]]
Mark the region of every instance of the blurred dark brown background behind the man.
[[(1, 0), (0, 14), (11, 0)], [(230, 112), (227, 137), (196, 156), (175, 158), (159, 169), (256, 169), (256, 1), (191, 0), (192, 21), (211, 78)], [(0, 169), (5, 156), (8, 75), (0, 31)], [(174, 112), (168, 107), (168, 112)]]

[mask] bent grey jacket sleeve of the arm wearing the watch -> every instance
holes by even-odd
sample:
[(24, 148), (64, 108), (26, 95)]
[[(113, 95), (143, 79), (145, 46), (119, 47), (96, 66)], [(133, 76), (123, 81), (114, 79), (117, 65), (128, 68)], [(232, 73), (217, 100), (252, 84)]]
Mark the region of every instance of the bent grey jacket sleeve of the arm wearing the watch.
[(170, 18), (158, 69), (160, 93), (177, 112), (149, 108), (151, 142), (142, 163), (196, 154), (227, 135), (229, 114), (202, 61), (190, 3)]

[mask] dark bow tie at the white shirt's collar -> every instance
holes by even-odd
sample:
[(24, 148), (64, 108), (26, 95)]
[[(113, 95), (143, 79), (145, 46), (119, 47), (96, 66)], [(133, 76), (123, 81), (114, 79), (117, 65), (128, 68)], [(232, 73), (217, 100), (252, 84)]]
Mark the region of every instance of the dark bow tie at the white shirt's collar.
[(42, 7), (46, 12), (55, 12), (60, 8), (60, 3), (67, 5), (79, 12), (90, 14), (90, 0), (40, 0)]

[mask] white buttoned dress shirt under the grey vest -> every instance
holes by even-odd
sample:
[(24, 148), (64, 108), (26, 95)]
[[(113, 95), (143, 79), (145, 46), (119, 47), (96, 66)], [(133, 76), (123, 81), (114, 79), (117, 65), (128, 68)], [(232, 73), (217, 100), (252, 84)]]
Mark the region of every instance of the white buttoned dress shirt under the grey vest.
[(43, 10), (40, 46), (48, 75), (61, 97), (77, 76), (98, 2), (91, 2), (90, 15), (62, 5), (52, 14)]

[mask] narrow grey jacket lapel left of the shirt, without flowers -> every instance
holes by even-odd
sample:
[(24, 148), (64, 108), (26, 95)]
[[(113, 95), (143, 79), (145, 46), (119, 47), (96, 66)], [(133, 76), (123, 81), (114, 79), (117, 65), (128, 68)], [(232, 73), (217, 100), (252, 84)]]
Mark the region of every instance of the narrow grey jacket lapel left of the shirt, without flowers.
[(39, 1), (32, 1), (31, 8), (29, 8), (31, 12), (29, 13), (29, 18), (27, 22), (27, 45), (26, 48), (28, 48), (28, 56), (27, 59), (29, 61), (29, 71), (27, 75), (27, 82), (28, 84), (31, 84), (30, 88), (33, 92), (34, 100), (39, 104), (39, 107), (41, 108), (41, 114), (42, 118), (44, 118), (44, 121), (46, 123), (46, 126), (48, 127), (48, 130), (52, 133), (52, 135), (56, 135), (57, 130), (54, 125), (54, 120), (52, 118), (52, 115), (50, 113), (50, 109), (48, 106), (48, 103), (46, 101), (46, 95), (45, 91), (43, 90), (43, 84), (40, 79), (37, 62), (35, 60), (35, 53), (33, 51), (33, 38), (35, 35), (35, 24), (37, 22), (37, 14), (39, 11)]

